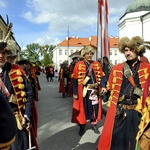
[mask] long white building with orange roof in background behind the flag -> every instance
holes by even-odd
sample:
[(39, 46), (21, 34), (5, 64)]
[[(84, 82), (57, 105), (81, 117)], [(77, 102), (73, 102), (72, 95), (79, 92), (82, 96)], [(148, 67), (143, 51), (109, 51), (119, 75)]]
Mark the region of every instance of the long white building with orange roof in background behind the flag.
[[(120, 59), (118, 58), (117, 54), (119, 53), (118, 50), (118, 37), (109, 37), (110, 41), (110, 61), (113, 64), (120, 63)], [(97, 36), (91, 36), (90, 38), (79, 38), (79, 37), (70, 37), (69, 41), (65, 39), (61, 43), (59, 43), (55, 49), (53, 50), (53, 62), (56, 68), (59, 69), (59, 66), (62, 62), (72, 61), (73, 54), (79, 52), (80, 50), (87, 45), (94, 45), (97, 47)], [(96, 60), (96, 52), (93, 56), (93, 60)]]

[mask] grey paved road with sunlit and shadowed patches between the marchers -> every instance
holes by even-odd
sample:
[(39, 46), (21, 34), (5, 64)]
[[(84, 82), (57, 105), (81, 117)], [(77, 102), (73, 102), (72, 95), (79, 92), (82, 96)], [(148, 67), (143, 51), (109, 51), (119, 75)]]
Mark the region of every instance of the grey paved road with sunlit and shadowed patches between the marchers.
[[(71, 123), (73, 99), (62, 98), (58, 93), (59, 82), (47, 82), (45, 75), (39, 77), (37, 109), (39, 114), (37, 141), (40, 150), (96, 150), (99, 135), (86, 125), (86, 133), (80, 137), (79, 127)], [(103, 121), (98, 123), (101, 131)]]

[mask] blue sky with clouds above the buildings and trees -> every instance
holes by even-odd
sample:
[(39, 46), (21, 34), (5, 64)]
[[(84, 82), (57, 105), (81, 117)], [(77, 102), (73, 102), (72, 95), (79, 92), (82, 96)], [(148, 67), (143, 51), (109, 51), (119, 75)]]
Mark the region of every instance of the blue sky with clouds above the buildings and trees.
[[(97, 35), (98, 0), (0, 0), (0, 15), (13, 23), (21, 47), (27, 44), (57, 45), (67, 36)], [(118, 36), (119, 18), (134, 0), (108, 0), (109, 35)]]

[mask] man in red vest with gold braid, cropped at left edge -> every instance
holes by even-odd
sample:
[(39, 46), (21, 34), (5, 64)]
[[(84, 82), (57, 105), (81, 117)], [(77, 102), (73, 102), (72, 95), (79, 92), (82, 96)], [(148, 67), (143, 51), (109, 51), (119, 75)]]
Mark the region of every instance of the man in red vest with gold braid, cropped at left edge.
[(16, 42), (12, 40), (1, 41), (1, 70), (2, 81), (5, 86), (3, 90), (5, 98), (16, 117), (17, 134), (15, 141), (11, 144), (11, 150), (29, 148), (28, 132), (31, 128), (33, 91), (27, 82), (26, 74), (18, 65), (7, 62), (7, 53), (16, 50)]

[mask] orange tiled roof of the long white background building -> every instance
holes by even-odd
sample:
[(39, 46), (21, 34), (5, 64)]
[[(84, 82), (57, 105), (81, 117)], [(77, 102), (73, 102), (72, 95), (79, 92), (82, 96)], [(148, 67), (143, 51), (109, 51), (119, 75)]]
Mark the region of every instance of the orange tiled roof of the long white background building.
[[(109, 40), (110, 47), (118, 47), (119, 37), (109, 37)], [(65, 39), (57, 46), (87, 46), (90, 44), (97, 47), (97, 36), (91, 36), (90, 38), (69, 37), (69, 43)]]

